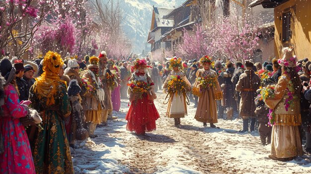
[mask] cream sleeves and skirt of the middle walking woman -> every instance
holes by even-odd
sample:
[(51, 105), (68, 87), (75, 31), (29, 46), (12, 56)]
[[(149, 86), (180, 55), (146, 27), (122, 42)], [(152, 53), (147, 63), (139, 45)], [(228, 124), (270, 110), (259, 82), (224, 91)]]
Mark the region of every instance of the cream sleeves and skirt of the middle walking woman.
[[(191, 83), (185, 76), (185, 73), (182, 71), (171, 71), (166, 78), (164, 84), (163, 84), (163, 89), (167, 89), (167, 82), (172, 78), (172, 77), (177, 77), (180, 76), (180, 79), (184, 80), (187, 85), (189, 86), (189, 89), (191, 88)], [(178, 93), (173, 93), (169, 94), (169, 100), (168, 100), (168, 107), (166, 110), (166, 116), (170, 118), (182, 118), (187, 115), (187, 104), (186, 104), (186, 93), (178, 94)]]

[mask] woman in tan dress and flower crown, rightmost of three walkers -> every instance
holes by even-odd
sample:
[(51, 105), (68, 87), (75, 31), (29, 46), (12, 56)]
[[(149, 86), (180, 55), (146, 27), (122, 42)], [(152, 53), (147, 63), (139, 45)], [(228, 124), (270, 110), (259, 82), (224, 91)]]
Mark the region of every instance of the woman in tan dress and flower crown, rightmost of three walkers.
[(200, 94), (194, 118), (197, 121), (203, 122), (203, 126), (207, 126), (207, 123), (210, 123), (211, 127), (216, 128), (214, 124), (218, 122), (216, 100), (222, 99), (223, 92), (218, 82), (217, 73), (210, 69), (213, 63), (212, 58), (208, 56), (203, 56), (200, 59), (200, 64), (203, 68), (198, 70), (197, 79), (193, 85), (194, 90), (198, 89)]

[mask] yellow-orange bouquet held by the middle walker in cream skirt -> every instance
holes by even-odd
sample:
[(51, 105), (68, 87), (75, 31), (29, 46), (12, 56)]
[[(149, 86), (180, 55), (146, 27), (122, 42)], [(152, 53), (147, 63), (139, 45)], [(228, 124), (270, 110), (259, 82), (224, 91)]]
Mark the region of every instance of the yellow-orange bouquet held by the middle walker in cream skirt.
[(171, 76), (171, 79), (167, 82), (167, 92), (170, 94), (178, 93), (181, 95), (186, 90), (189, 90), (189, 86), (179, 75)]

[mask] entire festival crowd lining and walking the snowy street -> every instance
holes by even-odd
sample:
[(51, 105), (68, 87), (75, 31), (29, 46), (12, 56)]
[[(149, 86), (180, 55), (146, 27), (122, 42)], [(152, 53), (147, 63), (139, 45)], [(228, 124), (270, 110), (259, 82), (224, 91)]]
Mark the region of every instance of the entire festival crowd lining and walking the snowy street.
[(292, 48), (283, 53), (263, 64), (208, 56), (113, 60), (104, 51), (82, 61), (64, 61), (54, 52), (33, 61), (4, 57), (0, 173), (74, 173), (70, 147), (79, 148), (76, 140), (97, 137), (97, 126), (117, 119), (112, 111), (119, 112), (121, 99), (130, 101), (127, 130), (137, 135), (155, 130), (158, 90), (177, 127), (193, 102), (193, 116), (203, 126), (220, 128), (218, 119), (236, 116), (243, 120), (240, 133), (258, 127), (261, 143), (271, 144), (271, 159), (288, 161), (311, 152), (311, 61), (298, 61)]

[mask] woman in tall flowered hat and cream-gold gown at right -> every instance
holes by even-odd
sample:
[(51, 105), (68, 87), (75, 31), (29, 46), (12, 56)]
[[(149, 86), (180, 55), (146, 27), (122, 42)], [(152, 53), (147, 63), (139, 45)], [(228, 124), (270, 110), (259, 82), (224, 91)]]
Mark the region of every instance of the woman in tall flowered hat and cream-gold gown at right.
[(302, 83), (296, 72), (296, 56), (293, 48), (283, 48), (283, 58), (278, 60), (282, 75), (275, 85), (272, 97), (264, 102), (270, 108), (269, 118), (272, 125), (271, 155), (269, 158), (290, 161), (303, 155), (299, 126), (301, 125), (300, 92)]

